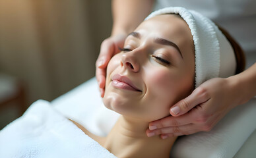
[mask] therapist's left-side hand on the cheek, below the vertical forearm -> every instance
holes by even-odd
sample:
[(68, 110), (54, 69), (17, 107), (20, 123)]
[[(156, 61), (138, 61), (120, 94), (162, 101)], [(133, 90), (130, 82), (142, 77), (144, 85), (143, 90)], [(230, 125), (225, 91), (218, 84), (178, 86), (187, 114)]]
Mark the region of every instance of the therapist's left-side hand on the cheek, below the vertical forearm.
[(106, 68), (110, 59), (116, 53), (119, 53), (118, 47), (123, 47), (127, 35), (118, 34), (115, 36), (110, 36), (110, 38), (102, 41), (100, 46), (100, 55), (96, 61), (96, 79), (100, 87), (100, 95), (104, 96), (105, 83), (106, 83)]

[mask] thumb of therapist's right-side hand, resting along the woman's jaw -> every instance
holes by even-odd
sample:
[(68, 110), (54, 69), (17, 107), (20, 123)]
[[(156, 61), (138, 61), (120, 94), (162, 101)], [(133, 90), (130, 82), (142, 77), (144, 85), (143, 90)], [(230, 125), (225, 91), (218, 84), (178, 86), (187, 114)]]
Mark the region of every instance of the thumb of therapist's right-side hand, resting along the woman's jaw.
[(191, 95), (186, 97), (185, 99), (182, 99), (181, 101), (177, 102), (171, 109), (170, 114), (172, 116), (180, 116), (184, 113), (187, 113), (187, 111), (191, 110), (196, 105), (199, 105), (201, 103), (204, 103), (210, 99), (210, 95), (208, 95), (207, 90), (204, 88), (197, 88), (195, 89)]

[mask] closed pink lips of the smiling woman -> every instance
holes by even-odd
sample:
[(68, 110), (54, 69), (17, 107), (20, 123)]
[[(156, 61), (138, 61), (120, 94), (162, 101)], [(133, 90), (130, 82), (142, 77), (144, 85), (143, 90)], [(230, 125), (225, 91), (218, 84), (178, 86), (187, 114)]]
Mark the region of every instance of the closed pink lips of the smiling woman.
[(112, 76), (112, 86), (115, 88), (121, 88), (124, 90), (132, 90), (132, 91), (137, 91), (137, 92), (142, 92), (137, 88), (133, 82), (126, 76), (123, 76), (121, 74), (114, 74)]

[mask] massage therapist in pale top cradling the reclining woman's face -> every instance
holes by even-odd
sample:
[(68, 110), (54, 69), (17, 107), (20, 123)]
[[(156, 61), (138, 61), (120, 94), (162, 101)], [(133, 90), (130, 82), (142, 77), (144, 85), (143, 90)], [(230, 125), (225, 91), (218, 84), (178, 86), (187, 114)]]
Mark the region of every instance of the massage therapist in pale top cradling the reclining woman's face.
[[(119, 53), (117, 46), (123, 47), (123, 41), (127, 34), (133, 31), (152, 9), (167, 6), (182, 6), (192, 9), (228, 29), (245, 50), (247, 61), (249, 61), (247, 67), (252, 66), (243, 73), (228, 78), (228, 80), (216, 78), (205, 82), (199, 86), (198, 90), (193, 91), (191, 95), (172, 106), (170, 109), (172, 117), (150, 122), (149, 128), (155, 134), (168, 134), (168, 136), (180, 136), (189, 130), (195, 132), (205, 131), (206, 128), (210, 130), (230, 109), (246, 103), (256, 95), (256, 64), (253, 65), (256, 59), (255, 5), (255, 1), (252, 0), (113, 0), (112, 35), (102, 42), (100, 55), (96, 62), (96, 78), (102, 97), (104, 96), (108, 61), (115, 53)], [(200, 93), (208, 93), (208, 97), (200, 97)], [(200, 110), (197, 108), (198, 105), (202, 107)], [(199, 124), (196, 122), (195, 116), (200, 114), (203, 121)], [(190, 127), (183, 128), (185, 124), (190, 124)], [(179, 134), (174, 132), (177, 128), (179, 128)]]

